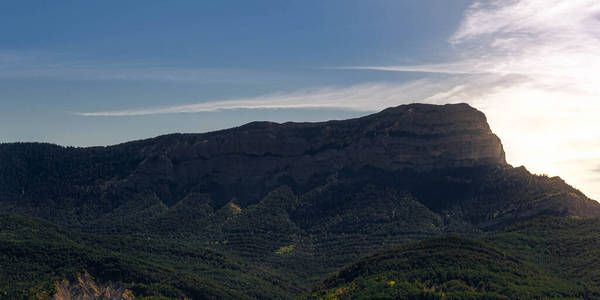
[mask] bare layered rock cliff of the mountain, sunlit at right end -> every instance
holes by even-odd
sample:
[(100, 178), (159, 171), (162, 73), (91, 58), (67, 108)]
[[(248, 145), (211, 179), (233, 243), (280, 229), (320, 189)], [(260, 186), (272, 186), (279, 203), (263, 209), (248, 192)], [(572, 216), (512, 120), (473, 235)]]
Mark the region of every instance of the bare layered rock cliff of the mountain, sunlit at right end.
[(146, 159), (129, 181), (137, 189), (202, 189), (197, 185), (202, 181), (246, 192), (262, 185), (301, 186), (316, 174), (342, 169), (420, 172), (507, 166), (502, 144), (484, 114), (467, 104), (402, 105), (322, 123), (254, 122), (206, 134), (159, 137), (142, 152)]

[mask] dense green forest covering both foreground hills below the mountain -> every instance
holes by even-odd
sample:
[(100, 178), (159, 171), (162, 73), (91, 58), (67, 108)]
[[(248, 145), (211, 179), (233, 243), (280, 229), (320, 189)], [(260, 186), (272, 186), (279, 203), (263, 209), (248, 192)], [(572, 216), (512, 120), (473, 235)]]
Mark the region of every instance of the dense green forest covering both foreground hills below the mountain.
[[(600, 299), (595, 219), (540, 217), (479, 238), (408, 242), (312, 288), (299, 286), (298, 274), (276, 274), (194, 244), (82, 234), (9, 215), (0, 216), (0, 225), (2, 299), (50, 299), (57, 282), (84, 271), (143, 299)], [(274, 255), (285, 259), (294, 251), (290, 245)]]

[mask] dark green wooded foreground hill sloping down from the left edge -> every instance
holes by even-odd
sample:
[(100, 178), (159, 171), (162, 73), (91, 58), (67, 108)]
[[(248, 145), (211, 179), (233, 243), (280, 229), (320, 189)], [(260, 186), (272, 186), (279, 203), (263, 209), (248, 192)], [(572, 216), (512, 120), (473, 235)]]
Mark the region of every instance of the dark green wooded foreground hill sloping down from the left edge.
[(44, 221), (0, 216), (2, 299), (49, 299), (55, 283), (84, 270), (122, 282), (138, 297), (287, 298), (281, 279), (221, 254), (182, 244), (79, 234)]

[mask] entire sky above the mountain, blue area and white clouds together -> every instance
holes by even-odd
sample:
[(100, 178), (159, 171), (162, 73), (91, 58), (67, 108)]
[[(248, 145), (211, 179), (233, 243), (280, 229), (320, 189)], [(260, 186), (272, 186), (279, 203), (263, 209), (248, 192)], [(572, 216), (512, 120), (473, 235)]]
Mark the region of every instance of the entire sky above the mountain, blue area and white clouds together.
[(0, 142), (467, 102), (510, 163), (600, 199), (597, 74), (597, 0), (0, 2)]

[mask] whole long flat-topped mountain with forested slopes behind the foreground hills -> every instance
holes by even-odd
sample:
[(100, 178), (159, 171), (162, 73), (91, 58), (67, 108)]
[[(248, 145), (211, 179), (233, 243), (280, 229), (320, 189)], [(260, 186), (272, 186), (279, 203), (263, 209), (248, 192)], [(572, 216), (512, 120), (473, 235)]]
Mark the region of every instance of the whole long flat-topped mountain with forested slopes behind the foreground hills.
[[(474, 108), (410, 104), (357, 119), (255, 122), (109, 147), (2, 144), (0, 213), (98, 235), (95, 245), (114, 255), (132, 253), (107, 242), (124, 237), (212, 251), (243, 265), (257, 286), (279, 286), (261, 297), (289, 298), (405, 242), (480, 238), (545, 215), (596, 218), (600, 205), (558, 177), (508, 165)], [(77, 266), (71, 279), (103, 272), (102, 264)], [(190, 272), (206, 279), (198, 270)]]

